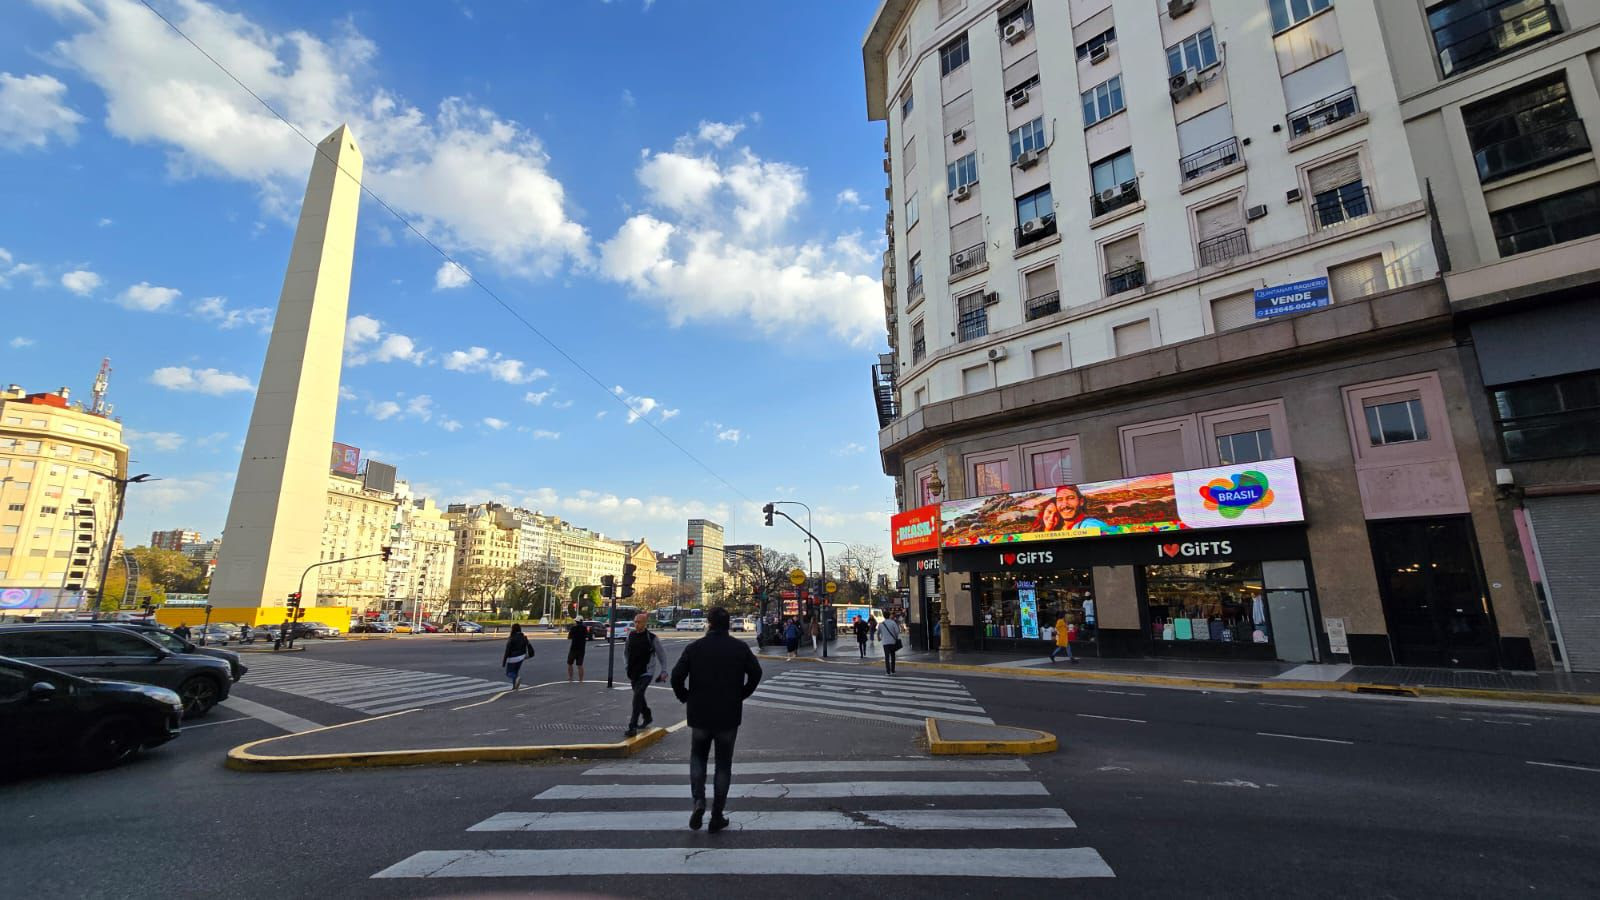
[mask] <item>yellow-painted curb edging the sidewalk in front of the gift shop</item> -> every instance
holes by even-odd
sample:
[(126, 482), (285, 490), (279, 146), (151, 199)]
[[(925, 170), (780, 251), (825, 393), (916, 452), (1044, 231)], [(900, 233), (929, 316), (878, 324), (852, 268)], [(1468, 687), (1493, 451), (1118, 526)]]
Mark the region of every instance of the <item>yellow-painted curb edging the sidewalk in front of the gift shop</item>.
[[(798, 657), (802, 661), (838, 665), (816, 657)], [(1597, 693), (1555, 693), (1547, 690), (1496, 690), (1475, 687), (1426, 687), (1398, 684), (1368, 684), (1349, 681), (1296, 681), (1296, 679), (1210, 679), (1184, 676), (1155, 676), (1139, 673), (1086, 673), (1070, 669), (1035, 669), (1021, 666), (968, 666), (962, 663), (896, 661), (894, 668), (925, 671), (949, 671), (982, 676), (1010, 676), (1058, 681), (1149, 684), (1157, 687), (1200, 687), (1213, 690), (1328, 690), (1344, 693), (1368, 693), (1387, 697), (1454, 697), (1459, 700), (1504, 700), (1510, 703), (1562, 703), (1568, 706), (1600, 706)]]

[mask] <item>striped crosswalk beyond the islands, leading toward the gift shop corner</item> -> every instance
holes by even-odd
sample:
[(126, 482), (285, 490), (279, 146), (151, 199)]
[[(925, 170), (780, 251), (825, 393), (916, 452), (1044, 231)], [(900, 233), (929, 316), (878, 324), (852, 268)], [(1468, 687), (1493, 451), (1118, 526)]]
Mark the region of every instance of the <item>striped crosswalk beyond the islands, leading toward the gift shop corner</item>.
[(966, 687), (947, 677), (886, 676), (843, 666), (795, 665), (768, 676), (746, 700), (754, 706), (922, 725), (928, 716), (992, 725)]

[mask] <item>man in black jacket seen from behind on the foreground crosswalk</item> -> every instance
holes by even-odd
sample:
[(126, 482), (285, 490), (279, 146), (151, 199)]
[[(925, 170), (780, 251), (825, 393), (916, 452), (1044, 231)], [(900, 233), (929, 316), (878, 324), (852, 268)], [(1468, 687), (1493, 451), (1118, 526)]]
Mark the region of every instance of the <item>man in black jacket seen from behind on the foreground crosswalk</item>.
[(706, 615), (706, 637), (690, 644), (672, 668), (672, 693), (688, 703), (690, 713), (690, 791), (694, 812), (690, 828), (699, 831), (706, 815), (706, 756), (717, 745), (717, 780), (710, 807), (710, 831), (728, 826), (722, 810), (733, 781), (733, 741), (739, 737), (744, 698), (755, 693), (762, 665), (750, 645), (728, 634), (728, 610), (714, 607)]

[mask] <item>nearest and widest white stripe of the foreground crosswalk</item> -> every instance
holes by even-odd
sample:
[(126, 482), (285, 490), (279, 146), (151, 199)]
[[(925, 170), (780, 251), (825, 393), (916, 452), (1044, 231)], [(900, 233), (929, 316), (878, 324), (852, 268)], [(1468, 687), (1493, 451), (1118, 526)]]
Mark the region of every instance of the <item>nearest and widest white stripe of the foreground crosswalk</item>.
[[(832, 850), (709, 850), (702, 847), (622, 850), (595, 847), (605, 876), (621, 874), (733, 874), (805, 876), (819, 871), (858, 873), (851, 878), (1115, 878), (1091, 847), (1054, 850), (1016, 849), (862, 849)], [(872, 860), (862, 866), (862, 860)], [(574, 850), (424, 850), (373, 878), (595, 878), (594, 854)], [(600, 876), (600, 878), (605, 878)]]

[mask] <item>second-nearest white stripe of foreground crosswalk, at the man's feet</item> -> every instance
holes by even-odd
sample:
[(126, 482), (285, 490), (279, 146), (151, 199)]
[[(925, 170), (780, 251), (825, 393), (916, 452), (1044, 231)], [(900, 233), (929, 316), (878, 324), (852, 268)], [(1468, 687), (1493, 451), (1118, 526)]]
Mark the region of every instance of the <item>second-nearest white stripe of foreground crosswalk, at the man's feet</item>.
[[(467, 831), (677, 831), (683, 812), (502, 812)], [(1006, 831), (1077, 828), (1062, 809), (739, 810), (733, 831)]]

